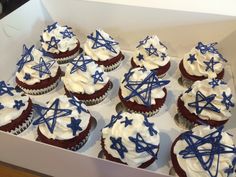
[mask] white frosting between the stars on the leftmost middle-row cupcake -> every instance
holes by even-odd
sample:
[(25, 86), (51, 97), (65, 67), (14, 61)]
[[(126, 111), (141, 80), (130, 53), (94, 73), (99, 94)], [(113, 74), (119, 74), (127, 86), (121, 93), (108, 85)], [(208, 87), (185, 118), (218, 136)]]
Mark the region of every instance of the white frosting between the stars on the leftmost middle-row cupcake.
[[(39, 51), (38, 49), (36, 49), (35, 47), (32, 49), (31, 51), (31, 55), (33, 57), (32, 61), (26, 62), (23, 66), (23, 68), (20, 71), (16, 72), (16, 77), (23, 83), (26, 83), (27, 85), (34, 85), (36, 83), (39, 83), (42, 80), (48, 79), (50, 77), (55, 77), (57, 74), (57, 71), (59, 69), (59, 65), (57, 64), (57, 62), (55, 62), (53, 59), (43, 56), (43, 53), (41, 51)], [(22, 57), (25, 57), (25, 60), (29, 60), (29, 58), (31, 57), (30, 55), (24, 55)], [(46, 74), (44, 73), (41, 77), (40, 77), (40, 72), (33, 69), (32, 67), (39, 65), (40, 63), (42, 64), (41, 59), (44, 60), (45, 64), (47, 66), (49, 66), (48, 64), (51, 63), (52, 66), (48, 67), (49, 68), (49, 73), (50, 74)], [(40, 68), (38, 69), (40, 70)], [(48, 72), (44, 65), (42, 65), (42, 71), (43, 72)], [(29, 78), (25, 77), (26, 75), (29, 75)]]

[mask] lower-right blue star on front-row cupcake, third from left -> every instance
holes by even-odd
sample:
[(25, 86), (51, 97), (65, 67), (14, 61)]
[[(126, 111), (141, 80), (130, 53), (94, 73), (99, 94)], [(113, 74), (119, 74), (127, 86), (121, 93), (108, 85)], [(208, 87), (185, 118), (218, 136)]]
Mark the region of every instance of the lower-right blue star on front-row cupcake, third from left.
[(135, 150), (137, 153), (147, 152), (152, 157), (156, 158), (158, 146), (144, 141), (140, 133), (136, 134), (136, 137), (129, 137), (129, 140), (135, 144)]

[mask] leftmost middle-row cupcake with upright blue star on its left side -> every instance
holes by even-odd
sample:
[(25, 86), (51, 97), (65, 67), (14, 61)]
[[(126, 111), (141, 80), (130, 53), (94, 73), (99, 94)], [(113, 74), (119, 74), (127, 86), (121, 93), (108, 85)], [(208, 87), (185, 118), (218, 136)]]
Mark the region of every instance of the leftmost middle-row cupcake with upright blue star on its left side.
[(25, 93), (47, 93), (60, 82), (61, 69), (55, 60), (45, 56), (34, 46), (23, 46), (23, 54), (17, 63), (16, 83)]

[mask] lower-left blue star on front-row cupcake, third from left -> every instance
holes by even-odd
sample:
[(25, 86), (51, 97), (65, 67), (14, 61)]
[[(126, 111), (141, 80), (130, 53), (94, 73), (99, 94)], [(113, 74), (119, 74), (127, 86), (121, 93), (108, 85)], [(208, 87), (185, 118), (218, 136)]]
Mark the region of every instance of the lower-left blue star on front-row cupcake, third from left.
[(121, 137), (119, 138), (110, 137), (110, 140), (112, 142), (110, 148), (115, 149), (119, 153), (120, 157), (123, 159), (125, 157), (125, 153), (128, 152), (128, 150), (122, 144)]

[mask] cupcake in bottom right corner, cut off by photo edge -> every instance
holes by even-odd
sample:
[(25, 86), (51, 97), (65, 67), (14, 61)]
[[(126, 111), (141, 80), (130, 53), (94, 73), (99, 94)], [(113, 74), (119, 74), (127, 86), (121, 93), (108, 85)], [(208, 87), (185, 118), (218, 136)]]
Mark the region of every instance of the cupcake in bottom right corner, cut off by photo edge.
[(175, 176), (235, 177), (236, 148), (231, 136), (223, 127), (203, 125), (182, 133), (171, 147)]

